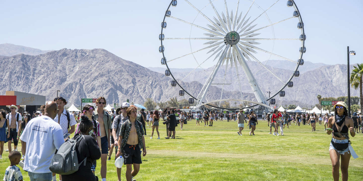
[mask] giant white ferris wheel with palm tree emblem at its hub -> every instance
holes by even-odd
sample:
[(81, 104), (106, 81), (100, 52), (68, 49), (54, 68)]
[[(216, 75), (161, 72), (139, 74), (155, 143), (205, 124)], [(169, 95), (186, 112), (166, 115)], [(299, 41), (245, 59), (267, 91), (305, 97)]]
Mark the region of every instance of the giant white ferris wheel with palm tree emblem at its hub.
[[(236, 109), (221, 105), (227, 101), (272, 109), (273, 97), (293, 87), (306, 52), (301, 14), (294, 0), (287, 7), (285, 2), (172, 0), (161, 23), (159, 52), (179, 96), (186, 93), (197, 108)], [(185, 64), (193, 68), (175, 69)], [(269, 90), (272, 96), (265, 96)]]

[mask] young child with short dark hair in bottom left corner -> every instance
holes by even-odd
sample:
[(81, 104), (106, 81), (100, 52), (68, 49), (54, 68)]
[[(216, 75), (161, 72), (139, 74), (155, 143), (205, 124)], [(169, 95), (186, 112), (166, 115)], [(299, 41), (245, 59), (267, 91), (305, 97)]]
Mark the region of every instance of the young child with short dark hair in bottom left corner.
[(16, 166), (19, 164), (20, 158), (21, 154), (19, 151), (13, 150), (9, 153), (10, 166), (5, 171), (4, 181), (23, 181), (23, 175), (19, 167)]

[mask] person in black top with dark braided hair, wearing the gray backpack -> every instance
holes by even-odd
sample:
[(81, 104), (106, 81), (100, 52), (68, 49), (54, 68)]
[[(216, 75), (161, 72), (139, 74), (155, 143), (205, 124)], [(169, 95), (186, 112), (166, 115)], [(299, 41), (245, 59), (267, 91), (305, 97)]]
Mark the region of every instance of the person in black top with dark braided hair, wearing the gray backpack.
[(81, 121), (79, 122), (79, 130), (81, 134), (76, 134), (73, 139), (77, 139), (78, 136), (84, 136), (84, 139), (77, 142), (77, 157), (78, 163), (81, 163), (86, 157), (86, 165), (81, 163), (79, 165), (78, 171), (69, 175), (62, 175), (63, 181), (95, 181), (96, 177), (91, 171), (91, 166), (94, 160), (98, 160), (101, 157), (101, 152), (96, 142), (96, 136), (94, 133), (93, 122), (88, 119), (86, 115), (81, 116)]

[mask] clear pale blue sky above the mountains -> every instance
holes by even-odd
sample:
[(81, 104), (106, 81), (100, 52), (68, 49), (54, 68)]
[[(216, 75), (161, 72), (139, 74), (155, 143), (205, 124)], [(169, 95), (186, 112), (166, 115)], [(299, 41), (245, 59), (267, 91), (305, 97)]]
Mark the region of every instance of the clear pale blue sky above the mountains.
[[(195, 3), (197, 8), (203, 8), (208, 2), (190, 1)], [(287, 9), (286, 0), (280, 1), (280, 6), (267, 12), (272, 22), (280, 21), (293, 13), (292, 8)], [(307, 35), (304, 60), (344, 64), (347, 59), (346, 47), (350, 46), (351, 50), (357, 52), (357, 55), (351, 56), (351, 64), (363, 62), (361, 23), (363, 1), (295, 1), (301, 12)], [(161, 67), (158, 36), (169, 2), (169, 0), (1, 1), (0, 43), (12, 43), (41, 50), (102, 48), (145, 67)], [(256, 3), (265, 9), (274, 2), (275, 0), (256, 0)], [(184, 0), (178, 0), (178, 6), (171, 8), (172, 15), (192, 21), (196, 11), (190, 10), (190, 7), (188, 10), (183, 10), (187, 8), (185, 4)], [(245, 12), (247, 7), (240, 9)], [(222, 11), (223, 8), (218, 10)], [(287, 12), (289, 16), (278, 16), (281, 12)], [(174, 28), (174, 37), (183, 37), (184, 29), (175, 26), (179, 25), (178, 23), (175, 23), (174, 27), (171, 24), (168, 26), (171, 27), (170, 30)], [(297, 31), (296, 24), (297, 19), (292, 23), (294, 31)], [(201, 25), (207, 27), (205, 24)], [(259, 25), (257, 26), (260, 27)], [(190, 30), (190, 26), (184, 27)], [(169, 32), (167, 30), (168, 27), (165, 31), (170, 34), (170, 30)], [(283, 26), (274, 26), (276, 34), (285, 30)], [(297, 33), (299, 34), (299, 31)], [(277, 47), (277, 49), (284, 48), (289, 47), (284, 44)], [(183, 45), (172, 48), (173, 51), (179, 49), (190, 52), (190, 47)], [(170, 52), (171, 47), (167, 47), (167, 50)], [(289, 53), (286, 56), (289, 56)], [(179, 64), (179, 67), (193, 66)]]

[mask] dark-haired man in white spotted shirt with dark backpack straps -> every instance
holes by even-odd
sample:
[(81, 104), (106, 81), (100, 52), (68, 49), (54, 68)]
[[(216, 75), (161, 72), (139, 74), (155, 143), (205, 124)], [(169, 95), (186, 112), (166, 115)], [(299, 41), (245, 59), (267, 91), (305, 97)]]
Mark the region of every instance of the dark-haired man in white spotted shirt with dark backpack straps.
[[(54, 118), (54, 121), (57, 122), (59, 125), (61, 125), (63, 134), (66, 134), (67, 132), (69, 134), (72, 134), (75, 131), (74, 125), (76, 125), (77, 122), (76, 119), (74, 119), (74, 116), (70, 114), (68, 110), (64, 109), (64, 106), (67, 104), (67, 101), (63, 97), (57, 97), (54, 99), (54, 102), (57, 103), (59, 110), (58, 114)], [(69, 115), (69, 124), (68, 124), (67, 114)]]

